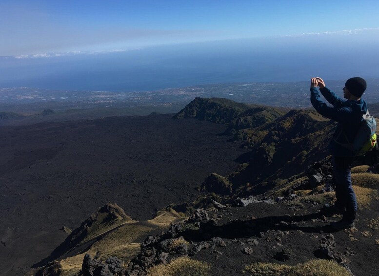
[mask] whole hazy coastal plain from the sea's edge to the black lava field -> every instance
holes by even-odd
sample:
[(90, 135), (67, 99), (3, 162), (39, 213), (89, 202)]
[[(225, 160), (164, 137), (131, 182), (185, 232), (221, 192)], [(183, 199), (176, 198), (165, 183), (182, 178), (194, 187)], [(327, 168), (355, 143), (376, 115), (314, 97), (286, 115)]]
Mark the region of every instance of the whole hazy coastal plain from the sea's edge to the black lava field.
[[(328, 87), (337, 94), (341, 93), (343, 86), (344, 81), (328, 82)], [(370, 79), (365, 92), (369, 105), (379, 102), (378, 90), (379, 80)], [(148, 115), (152, 112), (176, 113), (195, 97), (222, 97), (243, 103), (309, 108), (308, 91), (309, 83), (305, 81), (209, 84), (140, 92), (0, 88), (0, 125)], [(43, 110), (50, 111), (43, 116)]]

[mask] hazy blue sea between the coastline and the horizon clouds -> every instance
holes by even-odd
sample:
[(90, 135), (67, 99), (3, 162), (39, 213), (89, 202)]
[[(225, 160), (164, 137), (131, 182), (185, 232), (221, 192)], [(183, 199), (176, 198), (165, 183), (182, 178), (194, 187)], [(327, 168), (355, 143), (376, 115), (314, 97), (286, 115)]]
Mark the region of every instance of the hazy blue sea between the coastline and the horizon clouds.
[(50, 58), (0, 57), (0, 87), (146, 91), (230, 82), (379, 78), (378, 42), (339, 37), (162, 45)]

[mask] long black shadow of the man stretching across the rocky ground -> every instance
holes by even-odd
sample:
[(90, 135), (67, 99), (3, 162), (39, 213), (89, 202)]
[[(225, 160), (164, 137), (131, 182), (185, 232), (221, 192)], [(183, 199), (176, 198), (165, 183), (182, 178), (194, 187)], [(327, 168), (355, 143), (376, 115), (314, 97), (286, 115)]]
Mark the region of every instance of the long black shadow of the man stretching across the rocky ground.
[(329, 225), (307, 227), (299, 226), (297, 222), (307, 221), (312, 219), (321, 218), (324, 215), (322, 212), (311, 213), (306, 215), (297, 216), (266, 216), (262, 218), (252, 220), (235, 220), (224, 225), (214, 224), (212, 220), (201, 223), (198, 230), (191, 228), (181, 232), (180, 235), (185, 240), (192, 240), (194, 242), (206, 241), (211, 237), (221, 238), (242, 238), (262, 235), (267, 230), (280, 230), (280, 231), (296, 231), (300, 230), (304, 233), (334, 233), (337, 230), (333, 229)]

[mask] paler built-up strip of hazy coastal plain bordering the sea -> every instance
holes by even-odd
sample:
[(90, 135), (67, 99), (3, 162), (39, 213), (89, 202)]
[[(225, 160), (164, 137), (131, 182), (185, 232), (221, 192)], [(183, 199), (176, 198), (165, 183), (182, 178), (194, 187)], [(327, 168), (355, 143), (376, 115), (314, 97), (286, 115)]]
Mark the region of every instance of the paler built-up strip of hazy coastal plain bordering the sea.
[[(343, 81), (326, 81), (342, 96)], [(379, 79), (368, 80), (364, 94), (367, 103), (379, 102)], [(0, 88), (0, 111), (38, 108), (119, 108), (125, 106), (185, 105), (195, 97), (228, 98), (237, 102), (291, 108), (310, 107), (309, 83), (226, 83), (167, 88), (156, 91), (74, 91), (30, 87)]]

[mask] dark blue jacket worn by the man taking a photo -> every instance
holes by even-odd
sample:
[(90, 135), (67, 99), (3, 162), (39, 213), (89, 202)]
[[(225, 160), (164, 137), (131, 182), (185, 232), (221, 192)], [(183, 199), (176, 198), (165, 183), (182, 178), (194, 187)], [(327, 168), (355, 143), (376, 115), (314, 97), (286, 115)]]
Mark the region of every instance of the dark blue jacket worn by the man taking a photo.
[(315, 107), (317, 112), (322, 116), (337, 122), (336, 131), (329, 144), (330, 152), (338, 157), (354, 156), (353, 151), (339, 145), (339, 143), (353, 143), (360, 123), (363, 120), (362, 115), (367, 112), (366, 102), (362, 99), (359, 101), (343, 100), (327, 87), (320, 88), (320, 91), (333, 107), (327, 106), (320, 99), (319, 90), (316, 87), (311, 88), (312, 106)]

